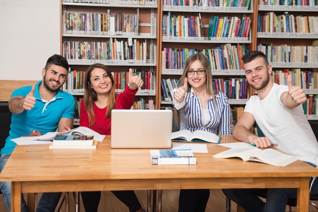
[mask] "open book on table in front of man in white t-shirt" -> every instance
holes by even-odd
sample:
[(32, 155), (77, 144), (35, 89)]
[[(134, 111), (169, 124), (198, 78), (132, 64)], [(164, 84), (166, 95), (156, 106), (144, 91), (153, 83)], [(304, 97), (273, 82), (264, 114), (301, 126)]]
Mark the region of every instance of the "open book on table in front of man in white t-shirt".
[(246, 148), (246, 149), (229, 149), (224, 152), (220, 152), (213, 156), (214, 158), (233, 158), (239, 157), (243, 161), (257, 161), (261, 163), (267, 163), (274, 166), (286, 166), (297, 158), (283, 154), (274, 149), (261, 150), (259, 148)]

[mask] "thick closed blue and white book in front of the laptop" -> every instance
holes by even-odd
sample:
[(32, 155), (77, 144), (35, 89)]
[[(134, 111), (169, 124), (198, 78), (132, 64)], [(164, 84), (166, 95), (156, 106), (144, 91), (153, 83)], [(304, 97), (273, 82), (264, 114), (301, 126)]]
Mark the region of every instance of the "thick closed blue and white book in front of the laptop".
[(151, 163), (155, 165), (195, 165), (196, 156), (190, 149), (150, 150)]

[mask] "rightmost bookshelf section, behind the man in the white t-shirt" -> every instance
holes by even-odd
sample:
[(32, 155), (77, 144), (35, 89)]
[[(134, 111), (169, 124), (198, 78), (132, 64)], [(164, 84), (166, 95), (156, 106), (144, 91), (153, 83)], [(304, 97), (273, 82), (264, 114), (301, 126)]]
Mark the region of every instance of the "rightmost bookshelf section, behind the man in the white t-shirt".
[(273, 66), (277, 84), (287, 73), (307, 94), (308, 120), (318, 120), (318, 5), (316, 1), (258, 2), (257, 50)]

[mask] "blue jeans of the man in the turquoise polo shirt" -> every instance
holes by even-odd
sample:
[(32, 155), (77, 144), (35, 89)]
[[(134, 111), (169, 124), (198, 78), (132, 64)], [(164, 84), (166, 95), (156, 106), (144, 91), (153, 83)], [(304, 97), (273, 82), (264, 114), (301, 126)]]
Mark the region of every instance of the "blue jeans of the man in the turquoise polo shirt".
[[(4, 168), (11, 154), (3, 154), (0, 156), (0, 172)], [(0, 182), (0, 190), (4, 196), (7, 209), (11, 211), (11, 182)], [(37, 212), (54, 212), (55, 207), (59, 201), (61, 192), (58, 193), (43, 193), (38, 207)], [(28, 212), (28, 208), (21, 194), (21, 211)]]

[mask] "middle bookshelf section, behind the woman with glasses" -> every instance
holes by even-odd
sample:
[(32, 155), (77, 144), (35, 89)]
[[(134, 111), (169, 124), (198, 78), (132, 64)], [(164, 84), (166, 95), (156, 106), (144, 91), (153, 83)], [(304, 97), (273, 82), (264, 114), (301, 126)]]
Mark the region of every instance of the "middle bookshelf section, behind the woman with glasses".
[[(172, 107), (172, 98), (168, 97), (169, 81), (178, 80), (185, 59), (198, 52), (205, 54), (210, 60), (216, 90), (229, 92), (227, 95), (233, 107), (245, 105), (249, 96), (247, 93), (250, 92), (247, 86), (242, 96), (232, 95), (230, 89), (226, 91), (218, 87), (221, 88), (221, 84), (226, 87), (230, 82), (235, 85), (236, 82), (242, 83), (245, 80), (245, 72), (239, 58), (245, 50), (255, 49), (256, 36), (253, 31), (257, 18), (257, 14), (253, 13), (255, 1), (201, 1), (196, 5), (198, 4), (196, 1), (164, 0), (161, 4), (162, 33), (158, 47), (161, 62), (158, 64), (160, 70), (158, 78), (162, 82), (158, 84), (157, 95), (157, 102), (161, 103), (161, 108)], [(231, 27), (232, 30), (231, 23), (234, 26)], [(235, 93), (238, 93), (238, 87), (236, 90)]]

